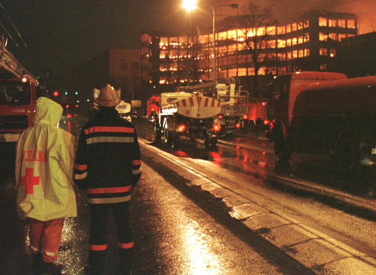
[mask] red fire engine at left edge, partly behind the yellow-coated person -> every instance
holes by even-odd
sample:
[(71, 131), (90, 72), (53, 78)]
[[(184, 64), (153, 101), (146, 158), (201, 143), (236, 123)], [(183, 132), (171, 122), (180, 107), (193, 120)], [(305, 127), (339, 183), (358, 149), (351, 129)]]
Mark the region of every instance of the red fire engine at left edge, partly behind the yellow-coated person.
[(33, 124), (37, 80), (0, 45), (0, 146), (14, 149), (23, 130)]

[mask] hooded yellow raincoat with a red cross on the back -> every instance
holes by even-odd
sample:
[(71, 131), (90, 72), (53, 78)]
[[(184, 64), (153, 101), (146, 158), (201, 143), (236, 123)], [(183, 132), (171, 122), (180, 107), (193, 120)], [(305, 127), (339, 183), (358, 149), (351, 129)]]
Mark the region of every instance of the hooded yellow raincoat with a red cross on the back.
[(17, 210), (21, 218), (46, 221), (77, 216), (73, 190), (74, 137), (57, 127), (63, 108), (41, 97), (34, 125), (16, 147)]

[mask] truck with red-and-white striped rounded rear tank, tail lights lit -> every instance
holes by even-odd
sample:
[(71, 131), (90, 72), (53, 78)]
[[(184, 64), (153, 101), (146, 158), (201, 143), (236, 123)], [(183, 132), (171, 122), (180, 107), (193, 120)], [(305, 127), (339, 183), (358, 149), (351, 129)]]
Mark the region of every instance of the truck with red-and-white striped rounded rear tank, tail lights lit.
[(179, 142), (196, 139), (203, 147), (215, 145), (219, 125), (214, 117), (221, 111), (220, 102), (209, 97), (186, 92), (161, 93), (160, 111), (153, 128), (157, 141), (174, 146)]

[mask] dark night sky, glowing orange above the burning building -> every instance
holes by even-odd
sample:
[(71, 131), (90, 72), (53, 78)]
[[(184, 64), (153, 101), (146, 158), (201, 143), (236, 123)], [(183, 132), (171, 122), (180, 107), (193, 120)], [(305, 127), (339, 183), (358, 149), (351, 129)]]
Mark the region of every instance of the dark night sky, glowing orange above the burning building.
[[(212, 6), (239, 5), (237, 10), (216, 9), (216, 20), (219, 20), (224, 15), (241, 14), (243, 5), (248, 2), (217, 0), (207, 3)], [(373, 20), (376, 0), (258, 2), (274, 4), (273, 10), (279, 20), (296, 18), (310, 9), (324, 9), (356, 13), (360, 33), (376, 29)], [(6, 37), (9, 37), (7, 32), (13, 37), (9, 38), (7, 48), (34, 75), (48, 71), (50, 77), (57, 80), (69, 77), (83, 62), (106, 49), (139, 48), (142, 30), (169, 33), (212, 24), (211, 8), (202, 6), (203, 9), (189, 15), (181, 9), (182, 0), (0, 0), (0, 3), (4, 7), (0, 12), (4, 27), (0, 26), (0, 29)]]

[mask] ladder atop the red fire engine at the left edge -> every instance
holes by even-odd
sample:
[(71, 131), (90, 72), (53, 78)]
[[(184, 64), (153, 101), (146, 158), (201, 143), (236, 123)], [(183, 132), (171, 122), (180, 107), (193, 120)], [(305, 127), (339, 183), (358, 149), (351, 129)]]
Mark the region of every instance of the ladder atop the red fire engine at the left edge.
[(37, 83), (36, 78), (7, 50), (6, 44), (7, 40), (5, 40), (4, 35), (2, 35), (0, 45), (0, 77), (21, 78), (26, 76), (31, 81)]

